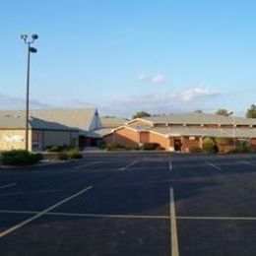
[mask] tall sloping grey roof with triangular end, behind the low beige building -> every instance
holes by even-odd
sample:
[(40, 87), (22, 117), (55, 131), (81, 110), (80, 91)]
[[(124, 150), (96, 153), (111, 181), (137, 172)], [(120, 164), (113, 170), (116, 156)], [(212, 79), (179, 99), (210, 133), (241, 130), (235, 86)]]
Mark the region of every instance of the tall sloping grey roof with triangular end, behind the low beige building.
[[(25, 116), (25, 111), (0, 111), (0, 116), (6, 114)], [(30, 115), (46, 122), (54, 122), (70, 128), (79, 129), (85, 133), (101, 127), (96, 108), (31, 110)]]

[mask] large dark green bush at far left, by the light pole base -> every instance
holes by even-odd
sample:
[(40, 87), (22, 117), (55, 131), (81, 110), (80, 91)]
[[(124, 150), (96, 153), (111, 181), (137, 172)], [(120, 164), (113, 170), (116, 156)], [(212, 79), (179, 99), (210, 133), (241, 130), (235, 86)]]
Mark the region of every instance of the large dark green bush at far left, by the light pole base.
[(4, 165), (32, 165), (42, 160), (40, 154), (32, 154), (24, 150), (3, 152), (1, 161)]

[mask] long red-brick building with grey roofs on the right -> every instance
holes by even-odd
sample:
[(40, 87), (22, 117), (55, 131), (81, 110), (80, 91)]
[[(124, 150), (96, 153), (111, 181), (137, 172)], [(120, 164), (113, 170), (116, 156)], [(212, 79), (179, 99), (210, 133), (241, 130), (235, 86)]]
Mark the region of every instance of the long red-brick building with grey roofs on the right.
[(203, 138), (247, 140), (256, 145), (256, 120), (206, 113), (171, 114), (136, 118), (104, 136), (107, 143), (135, 147), (158, 143), (171, 152), (202, 148)]

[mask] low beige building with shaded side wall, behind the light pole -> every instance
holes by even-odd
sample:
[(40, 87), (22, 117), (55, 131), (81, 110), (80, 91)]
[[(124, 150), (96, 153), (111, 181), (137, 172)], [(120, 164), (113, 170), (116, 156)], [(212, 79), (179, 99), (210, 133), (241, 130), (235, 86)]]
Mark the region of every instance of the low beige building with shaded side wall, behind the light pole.
[[(0, 116), (0, 151), (25, 149), (26, 120), (22, 116)], [(47, 146), (77, 147), (79, 131), (54, 122), (30, 117), (29, 150), (40, 151)]]

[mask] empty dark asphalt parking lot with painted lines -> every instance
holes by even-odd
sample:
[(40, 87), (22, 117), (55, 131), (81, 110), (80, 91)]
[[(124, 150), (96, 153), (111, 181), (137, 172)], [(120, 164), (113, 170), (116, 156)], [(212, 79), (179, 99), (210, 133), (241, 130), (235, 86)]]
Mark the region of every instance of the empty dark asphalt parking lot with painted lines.
[(0, 171), (1, 255), (256, 255), (256, 156), (87, 154)]

